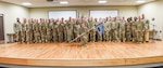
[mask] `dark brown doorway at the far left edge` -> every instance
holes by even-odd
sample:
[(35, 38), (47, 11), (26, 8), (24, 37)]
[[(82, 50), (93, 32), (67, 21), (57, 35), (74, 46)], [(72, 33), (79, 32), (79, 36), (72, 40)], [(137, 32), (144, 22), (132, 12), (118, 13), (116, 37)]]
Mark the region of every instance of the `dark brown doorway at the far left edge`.
[(3, 14), (0, 14), (0, 43), (4, 43)]

